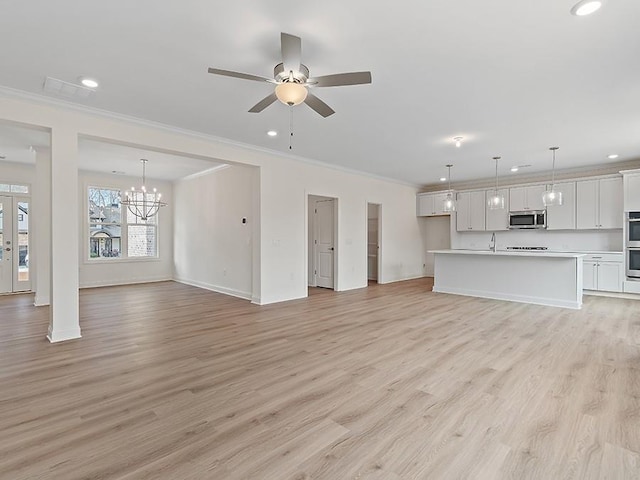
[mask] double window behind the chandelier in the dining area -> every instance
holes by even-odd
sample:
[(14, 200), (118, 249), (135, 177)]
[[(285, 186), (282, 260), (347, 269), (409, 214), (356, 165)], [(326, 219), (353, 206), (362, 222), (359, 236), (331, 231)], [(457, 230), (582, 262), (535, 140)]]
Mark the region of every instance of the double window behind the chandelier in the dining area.
[(88, 196), (89, 258), (158, 256), (157, 215), (146, 221), (133, 215), (122, 207), (120, 190), (89, 187)]

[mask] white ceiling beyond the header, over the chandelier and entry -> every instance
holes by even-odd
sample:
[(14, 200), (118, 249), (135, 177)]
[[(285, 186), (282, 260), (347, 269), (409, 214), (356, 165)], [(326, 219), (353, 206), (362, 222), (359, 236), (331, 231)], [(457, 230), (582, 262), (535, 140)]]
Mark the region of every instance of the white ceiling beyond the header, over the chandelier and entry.
[[(0, 123), (0, 156), (5, 157), (0, 161), (35, 164), (36, 150), (49, 144), (47, 132)], [(78, 142), (78, 162), (82, 170), (139, 177), (142, 158), (149, 160), (147, 177), (156, 180), (173, 181), (222, 165), (211, 160), (87, 138)]]

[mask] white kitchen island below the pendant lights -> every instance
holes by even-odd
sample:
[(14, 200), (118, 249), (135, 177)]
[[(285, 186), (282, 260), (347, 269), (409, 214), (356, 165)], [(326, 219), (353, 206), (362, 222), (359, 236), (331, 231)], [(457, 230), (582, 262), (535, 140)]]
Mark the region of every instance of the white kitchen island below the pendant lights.
[(435, 250), (433, 291), (582, 308), (582, 257), (559, 252)]

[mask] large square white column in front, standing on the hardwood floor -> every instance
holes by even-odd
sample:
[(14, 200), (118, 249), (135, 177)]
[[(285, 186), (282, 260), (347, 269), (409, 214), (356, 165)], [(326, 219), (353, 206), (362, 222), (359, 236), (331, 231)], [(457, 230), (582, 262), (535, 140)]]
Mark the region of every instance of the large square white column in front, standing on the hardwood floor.
[(51, 132), (51, 314), (50, 342), (79, 338), (78, 134)]

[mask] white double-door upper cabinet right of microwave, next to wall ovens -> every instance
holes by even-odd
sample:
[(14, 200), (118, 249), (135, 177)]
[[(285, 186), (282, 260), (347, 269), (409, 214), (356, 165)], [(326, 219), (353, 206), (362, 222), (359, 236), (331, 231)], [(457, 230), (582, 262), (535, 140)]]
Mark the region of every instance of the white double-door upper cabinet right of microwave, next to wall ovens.
[(577, 228), (622, 228), (622, 201), (622, 178), (576, 182)]

